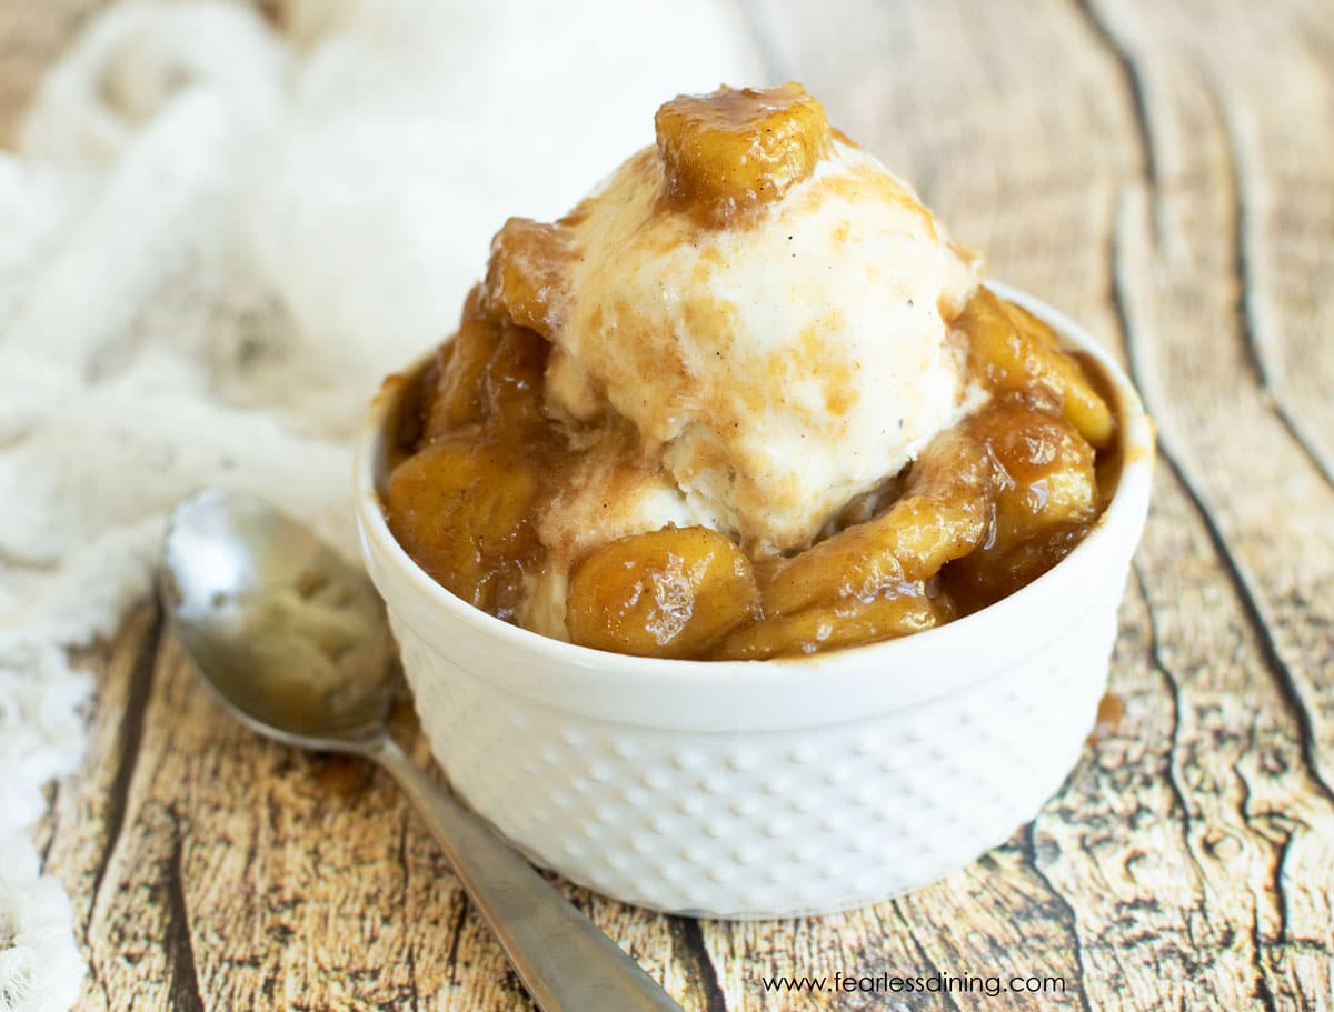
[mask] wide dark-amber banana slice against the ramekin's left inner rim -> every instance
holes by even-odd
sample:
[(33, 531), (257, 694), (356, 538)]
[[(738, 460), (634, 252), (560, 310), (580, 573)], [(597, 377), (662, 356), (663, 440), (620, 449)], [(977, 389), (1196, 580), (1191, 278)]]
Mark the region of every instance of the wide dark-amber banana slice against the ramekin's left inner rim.
[(536, 495), (531, 465), (470, 429), (394, 468), (384, 508), (418, 565), (470, 604), (511, 619), (524, 567), (540, 555), (528, 523)]

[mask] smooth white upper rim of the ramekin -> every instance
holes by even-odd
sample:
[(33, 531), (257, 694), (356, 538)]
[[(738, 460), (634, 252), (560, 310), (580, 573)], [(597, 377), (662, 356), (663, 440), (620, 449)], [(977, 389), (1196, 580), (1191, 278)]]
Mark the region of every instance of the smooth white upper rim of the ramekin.
[[(1045, 593), (1049, 588), (1069, 579), (1081, 567), (1106, 559), (1107, 549), (1114, 548), (1110, 543), (1117, 539), (1114, 528), (1123, 529), (1129, 524), (1134, 528), (1133, 544), (1138, 543), (1147, 511), (1155, 456), (1155, 427), (1121, 364), (1083, 327), (1035, 296), (991, 279), (984, 279), (982, 284), (1043, 320), (1065, 344), (1091, 355), (1103, 369), (1115, 393), (1117, 417), (1121, 421), (1118, 436), (1122, 451), (1122, 472), (1111, 501), (1098, 517), (1094, 528), (1071, 549), (1070, 555), (1031, 583), (971, 615), (898, 639), (842, 647), (823, 653), (764, 660), (640, 657), (580, 647), (520, 625), (512, 625), (466, 603), (432, 580), (390, 532), (376, 485), (384, 447), (386, 421), (391, 417), (391, 408), (396, 405), (403, 385), (388, 381), (372, 399), (355, 439), (354, 492), (363, 551), (392, 564), (412, 592), (430, 607), (442, 609), (482, 636), (498, 639), (530, 655), (528, 659), (534, 664), (523, 672), (508, 672), (508, 679), (550, 680), (558, 677), (558, 672), (559, 677), (578, 679), (580, 673), (606, 673), (615, 669), (616, 679), (631, 680), (631, 688), (634, 680), (642, 680), (647, 684), (670, 677), (680, 692), (690, 692), (692, 683), (716, 688), (720, 681), (726, 681), (734, 688), (739, 688), (736, 683), (754, 681), (756, 688), (772, 692), (780, 688), (780, 683), (791, 677), (804, 681), (818, 671), (846, 668), (850, 664), (858, 668), (874, 668), (878, 677), (886, 679), (911, 672), (914, 665), (928, 661), (932, 655), (948, 653), (951, 648), (958, 649), (967, 640), (976, 643), (975, 637), (984, 636), (987, 629), (998, 631), (1013, 625), (1014, 619), (1026, 612), (1037, 600), (1042, 597), (1051, 600), (1051, 595)], [(434, 348), (423, 353), (406, 368), (406, 375), (411, 375), (434, 353)], [(1129, 561), (1129, 553), (1126, 561)], [(1043, 645), (1042, 643), (1035, 644), (1031, 653), (1039, 652)], [(984, 680), (986, 676), (987, 673), (983, 672), (975, 679), (964, 679), (963, 681), (979, 681)], [(951, 684), (939, 685), (939, 692), (931, 695), (942, 695), (958, 687), (958, 680), (951, 680)]]

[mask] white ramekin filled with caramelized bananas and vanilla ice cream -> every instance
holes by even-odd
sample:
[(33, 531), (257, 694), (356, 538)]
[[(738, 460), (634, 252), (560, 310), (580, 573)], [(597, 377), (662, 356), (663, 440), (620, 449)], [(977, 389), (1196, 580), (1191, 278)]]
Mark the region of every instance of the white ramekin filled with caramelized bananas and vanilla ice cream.
[(364, 559), (436, 759), (534, 861), (676, 913), (883, 900), (1075, 764), (1153, 425), (799, 85), (655, 128), (386, 381)]

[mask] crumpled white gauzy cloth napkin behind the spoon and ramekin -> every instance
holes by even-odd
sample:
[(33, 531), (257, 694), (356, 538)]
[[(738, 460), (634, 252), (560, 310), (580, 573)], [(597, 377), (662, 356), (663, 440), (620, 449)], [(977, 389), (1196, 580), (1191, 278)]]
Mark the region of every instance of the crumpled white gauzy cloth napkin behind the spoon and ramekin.
[(352, 552), (347, 440), (448, 333), (508, 215), (550, 217), (683, 91), (762, 76), (739, 5), (224, 0), (95, 20), (0, 155), (0, 1012), (83, 959), (25, 831), (96, 700), (67, 649), (148, 593), (192, 488)]

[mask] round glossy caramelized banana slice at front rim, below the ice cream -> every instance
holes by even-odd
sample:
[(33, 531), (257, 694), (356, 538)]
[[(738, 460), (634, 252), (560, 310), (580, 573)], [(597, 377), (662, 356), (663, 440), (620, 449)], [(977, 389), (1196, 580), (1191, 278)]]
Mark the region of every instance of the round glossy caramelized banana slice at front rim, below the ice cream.
[(583, 560), (570, 581), (570, 639), (643, 657), (695, 657), (751, 619), (746, 555), (704, 527), (632, 535)]

